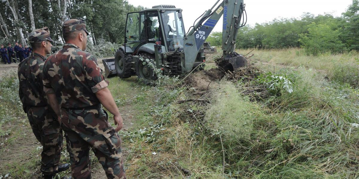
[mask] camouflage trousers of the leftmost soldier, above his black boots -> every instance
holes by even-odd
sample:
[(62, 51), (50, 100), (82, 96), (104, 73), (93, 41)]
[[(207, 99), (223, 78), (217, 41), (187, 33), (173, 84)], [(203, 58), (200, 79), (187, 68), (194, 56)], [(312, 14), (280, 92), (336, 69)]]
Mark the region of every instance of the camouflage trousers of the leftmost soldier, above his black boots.
[(58, 169), (62, 150), (62, 130), (56, 114), (48, 107), (29, 107), (27, 110), (32, 131), (41, 142), (41, 171), (53, 174)]

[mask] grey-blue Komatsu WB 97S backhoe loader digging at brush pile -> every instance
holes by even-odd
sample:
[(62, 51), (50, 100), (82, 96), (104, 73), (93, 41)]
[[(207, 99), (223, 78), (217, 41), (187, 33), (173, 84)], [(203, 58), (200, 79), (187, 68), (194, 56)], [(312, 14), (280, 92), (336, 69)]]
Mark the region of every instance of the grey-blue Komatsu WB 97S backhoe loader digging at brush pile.
[(206, 61), (203, 45), (222, 15), (223, 56), (218, 66), (225, 71), (247, 66), (246, 58), (235, 52), (238, 29), (247, 22), (244, 13), (243, 0), (218, 0), (187, 33), (182, 9), (173, 5), (128, 13), (125, 43), (117, 50), (115, 59), (103, 60), (106, 76), (129, 78), (137, 74), (144, 83), (150, 83), (157, 78), (154, 66), (165, 75), (176, 76), (194, 68), (203, 69)]

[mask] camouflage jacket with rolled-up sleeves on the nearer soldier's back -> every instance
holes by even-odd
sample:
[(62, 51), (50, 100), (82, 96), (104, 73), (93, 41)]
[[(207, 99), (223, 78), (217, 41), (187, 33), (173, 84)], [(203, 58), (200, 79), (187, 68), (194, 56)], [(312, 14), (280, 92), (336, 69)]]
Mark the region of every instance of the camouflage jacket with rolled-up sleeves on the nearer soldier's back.
[(52, 54), (44, 65), (44, 91), (56, 94), (62, 108), (86, 108), (99, 105), (95, 93), (106, 88), (94, 55), (74, 44)]

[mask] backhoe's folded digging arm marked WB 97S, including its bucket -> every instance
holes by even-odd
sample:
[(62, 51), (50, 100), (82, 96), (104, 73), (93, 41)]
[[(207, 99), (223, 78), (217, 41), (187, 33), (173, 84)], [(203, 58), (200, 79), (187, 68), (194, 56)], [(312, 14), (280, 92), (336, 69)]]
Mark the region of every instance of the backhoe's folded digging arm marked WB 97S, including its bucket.
[[(214, 9), (215, 8), (215, 9)], [(218, 65), (226, 71), (233, 71), (236, 68), (247, 66), (247, 60), (242, 55), (234, 52), (238, 29), (246, 24), (243, 13), (245, 4), (243, 0), (218, 0), (211, 9), (205, 11), (200, 20), (192, 26), (185, 35), (185, 68), (190, 71), (196, 59), (196, 55), (203, 43), (212, 32), (214, 26), (223, 15), (223, 57)]]

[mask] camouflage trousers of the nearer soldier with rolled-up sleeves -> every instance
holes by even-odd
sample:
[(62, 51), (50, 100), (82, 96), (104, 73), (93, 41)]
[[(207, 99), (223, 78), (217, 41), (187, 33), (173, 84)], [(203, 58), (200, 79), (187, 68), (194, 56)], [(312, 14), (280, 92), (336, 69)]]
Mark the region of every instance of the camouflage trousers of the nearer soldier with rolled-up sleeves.
[(91, 178), (91, 148), (108, 179), (126, 179), (121, 139), (107, 118), (101, 105), (93, 109), (61, 109), (61, 127), (65, 132), (74, 179)]

